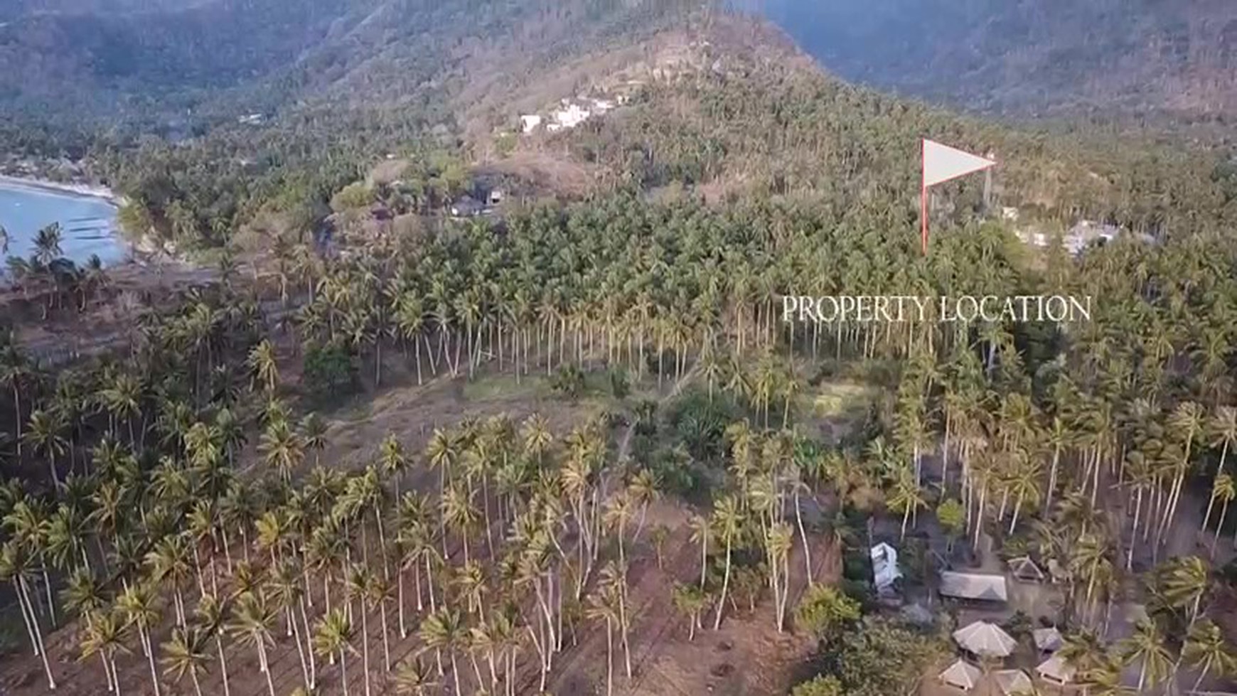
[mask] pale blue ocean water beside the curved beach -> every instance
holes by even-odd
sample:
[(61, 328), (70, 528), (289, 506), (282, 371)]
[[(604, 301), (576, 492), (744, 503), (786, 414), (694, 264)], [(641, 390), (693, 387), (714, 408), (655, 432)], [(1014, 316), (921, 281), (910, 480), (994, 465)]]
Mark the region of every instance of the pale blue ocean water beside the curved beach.
[(28, 257), (35, 235), (61, 224), (61, 252), (78, 265), (96, 253), (104, 265), (129, 256), (129, 246), (115, 235), (116, 209), (101, 198), (0, 183), (0, 226), (9, 232), (2, 256)]

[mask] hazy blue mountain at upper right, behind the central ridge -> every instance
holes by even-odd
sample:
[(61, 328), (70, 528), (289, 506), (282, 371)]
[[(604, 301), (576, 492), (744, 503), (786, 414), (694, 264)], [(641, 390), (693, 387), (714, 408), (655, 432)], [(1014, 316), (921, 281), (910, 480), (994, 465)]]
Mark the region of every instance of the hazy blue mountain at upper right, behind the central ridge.
[(845, 78), (1018, 112), (1237, 112), (1233, 0), (752, 0)]

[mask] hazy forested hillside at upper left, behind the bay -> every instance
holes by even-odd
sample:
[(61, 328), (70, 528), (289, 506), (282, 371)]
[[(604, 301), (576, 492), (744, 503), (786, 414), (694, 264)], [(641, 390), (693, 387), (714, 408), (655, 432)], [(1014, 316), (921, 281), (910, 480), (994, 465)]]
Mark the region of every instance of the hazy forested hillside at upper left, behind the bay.
[[(220, 120), (340, 98), (371, 109), (459, 79), (465, 47), (563, 49), (679, 2), (612, 0), (203, 0), (0, 22), (0, 108), (27, 127), (183, 138)], [(588, 23), (585, 23), (588, 22)]]

